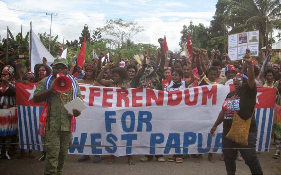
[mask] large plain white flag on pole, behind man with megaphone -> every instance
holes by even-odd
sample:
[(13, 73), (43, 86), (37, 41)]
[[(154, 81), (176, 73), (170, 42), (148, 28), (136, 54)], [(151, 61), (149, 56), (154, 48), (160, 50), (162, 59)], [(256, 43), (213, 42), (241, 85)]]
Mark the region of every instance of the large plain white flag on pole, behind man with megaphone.
[(42, 59), (47, 59), (47, 65), (51, 66), (54, 62), (54, 57), (48, 52), (45, 46), (41, 43), (35, 32), (31, 29), (31, 40), (29, 38), (29, 46), (31, 42), (31, 71), (34, 72), (35, 64), (42, 64)]

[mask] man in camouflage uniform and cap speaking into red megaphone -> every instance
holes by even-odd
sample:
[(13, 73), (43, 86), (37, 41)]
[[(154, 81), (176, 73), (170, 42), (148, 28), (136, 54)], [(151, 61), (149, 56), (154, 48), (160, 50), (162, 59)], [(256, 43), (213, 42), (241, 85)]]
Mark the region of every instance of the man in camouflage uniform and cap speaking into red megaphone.
[(79, 97), (83, 100), (78, 83), (68, 75), (67, 60), (56, 57), (53, 75), (42, 79), (34, 92), (34, 102), (45, 101), (38, 133), (46, 144), (46, 163), (44, 174), (61, 174), (68, 148), (72, 142), (72, 133), (76, 128), (76, 119), (80, 111), (73, 109), (69, 114), (64, 105)]

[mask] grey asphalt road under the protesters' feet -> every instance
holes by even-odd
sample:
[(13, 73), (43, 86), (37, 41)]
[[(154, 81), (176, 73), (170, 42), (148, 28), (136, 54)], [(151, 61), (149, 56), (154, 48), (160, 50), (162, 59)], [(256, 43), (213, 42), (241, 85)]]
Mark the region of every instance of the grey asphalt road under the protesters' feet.
[[(271, 145), (271, 148), (274, 148)], [(28, 151), (25, 151), (26, 155)], [(258, 154), (264, 174), (281, 174), (281, 158), (273, 159), (275, 150)], [(36, 159), (41, 152), (33, 151), (36, 158), (30, 159), (27, 156), (22, 159), (1, 159), (0, 174), (43, 174), (44, 162)], [(208, 154), (203, 155), (203, 163), (195, 163), (196, 158), (188, 157), (183, 163), (167, 162), (168, 155), (165, 155), (166, 162), (159, 163), (154, 158), (149, 162), (140, 162), (141, 155), (134, 155), (136, 165), (128, 165), (126, 157), (116, 157), (115, 163), (108, 165), (106, 160), (100, 163), (92, 163), (91, 160), (78, 162), (80, 155), (68, 155), (64, 165), (63, 174), (226, 174), (225, 163), (220, 160), (219, 154), (213, 155), (217, 162), (208, 161)], [(109, 158), (109, 157), (105, 157)], [(236, 161), (236, 174), (251, 174), (244, 161)]]

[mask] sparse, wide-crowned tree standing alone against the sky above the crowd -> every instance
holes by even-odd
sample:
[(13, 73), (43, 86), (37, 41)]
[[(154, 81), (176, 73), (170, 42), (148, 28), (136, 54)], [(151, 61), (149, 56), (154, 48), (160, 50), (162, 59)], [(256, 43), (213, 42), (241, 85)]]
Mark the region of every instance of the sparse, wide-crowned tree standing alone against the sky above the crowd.
[(131, 39), (136, 34), (145, 31), (145, 29), (142, 26), (139, 26), (137, 22), (125, 22), (122, 19), (108, 20), (105, 22), (104, 27), (97, 29), (110, 36), (109, 41), (111, 41), (111, 44), (120, 48), (123, 48), (122, 46), (127, 40)]

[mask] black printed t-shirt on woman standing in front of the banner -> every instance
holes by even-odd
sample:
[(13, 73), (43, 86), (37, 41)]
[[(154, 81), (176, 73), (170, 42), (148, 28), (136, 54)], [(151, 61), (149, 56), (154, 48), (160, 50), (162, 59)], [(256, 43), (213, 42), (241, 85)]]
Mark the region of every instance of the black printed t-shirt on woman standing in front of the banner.
[[(251, 118), (253, 112), (255, 111), (256, 105), (256, 97), (257, 97), (257, 86), (256, 83), (253, 89), (250, 89), (247, 84), (246, 87), (242, 91), (233, 91), (229, 92), (227, 95), (225, 102), (222, 105), (222, 109), (225, 110), (223, 116), (223, 134), (226, 135), (232, 125), (233, 113), (237, 111), (238, 115), (243, 119), (247, 120)], [(249, 132), (256, 132), (256, 118), (253, 116), (251, 120), (251, 126)]]

